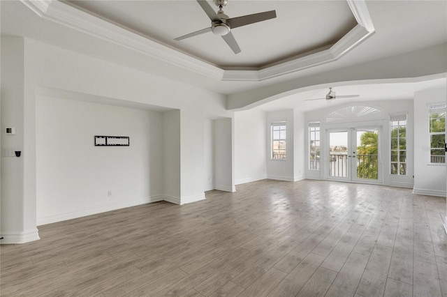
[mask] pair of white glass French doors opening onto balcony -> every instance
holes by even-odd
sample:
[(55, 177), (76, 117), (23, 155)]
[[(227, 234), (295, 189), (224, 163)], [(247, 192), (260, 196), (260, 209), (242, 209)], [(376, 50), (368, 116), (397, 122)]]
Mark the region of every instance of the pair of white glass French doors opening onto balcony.
[(326, 178), (379, 182), (379, 128), (328, 130)]

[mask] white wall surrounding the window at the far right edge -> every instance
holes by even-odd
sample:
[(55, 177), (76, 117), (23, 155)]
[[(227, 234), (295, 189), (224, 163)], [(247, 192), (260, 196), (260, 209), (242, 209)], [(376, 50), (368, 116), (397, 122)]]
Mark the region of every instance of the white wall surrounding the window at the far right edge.
[(414, 188), (422, 195), (446, 196), (446, 165), (432, 165), (430, 160), (430, 138), (428, 104), (446, 102), (446, 88), (420, 91), (414, 96)]

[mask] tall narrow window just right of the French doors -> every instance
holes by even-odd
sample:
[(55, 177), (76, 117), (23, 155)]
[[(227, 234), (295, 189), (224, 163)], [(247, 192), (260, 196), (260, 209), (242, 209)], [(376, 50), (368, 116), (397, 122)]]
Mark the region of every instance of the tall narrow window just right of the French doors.
[(406, 114), (391, 116), (391, 174), (406, 175)]

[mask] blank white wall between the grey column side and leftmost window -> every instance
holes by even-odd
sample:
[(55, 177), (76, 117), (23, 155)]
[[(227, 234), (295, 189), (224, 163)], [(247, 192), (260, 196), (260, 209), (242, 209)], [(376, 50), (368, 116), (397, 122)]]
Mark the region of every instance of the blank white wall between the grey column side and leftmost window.
[(267, 178), (266, 114), (235, 112), (235, 184)]

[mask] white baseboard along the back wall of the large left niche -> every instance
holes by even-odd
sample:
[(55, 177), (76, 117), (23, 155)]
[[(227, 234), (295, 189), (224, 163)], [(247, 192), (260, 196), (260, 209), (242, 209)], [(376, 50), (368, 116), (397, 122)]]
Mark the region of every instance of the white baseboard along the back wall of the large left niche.
[(121, 208), (127, 208), (131, 206), (137, 206), (141, 204), (148, 204), (156, 201), (163, 201), (164, 197), (161, 195), (152, 196), (152, 197), (146, 197), (143, 199), (137, 199), (132, 201), (126, 201), (124, 203), (119, 204), (109, 204), (109, 205), (103, 205), (96, 208), (89, 208), (89, 209), (82, 209), (79, 211), (73, 211), (71, 213), (61, 213), (58, 215), (50, 215), (43, 218), (37, 218), (37, 225), (40, 226), (42, 224), (51, 224), (54, 222), (61, 222), (65, 220), (72, 220), (75, 218), (81, 218), (85, 217), (87, 215), (96, 215), (97, 213), (105, 213), (107, 211), (115, 211), (117, 209)]

